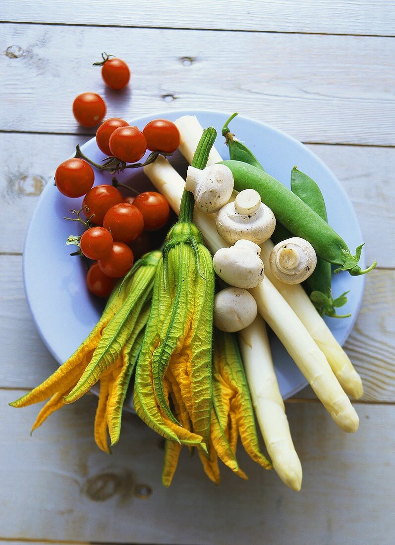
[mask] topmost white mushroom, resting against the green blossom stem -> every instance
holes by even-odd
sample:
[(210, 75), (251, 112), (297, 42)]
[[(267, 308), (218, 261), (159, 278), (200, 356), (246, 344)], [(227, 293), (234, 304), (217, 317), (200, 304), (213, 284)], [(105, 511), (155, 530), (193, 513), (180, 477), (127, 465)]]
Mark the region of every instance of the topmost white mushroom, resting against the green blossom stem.
[(185, 189), (195, 197), (196, 208), (212, 214), (226, 204), (232, 196), (233, 174), (225, 165), (211, 165), (200, 170), (188, 167)]

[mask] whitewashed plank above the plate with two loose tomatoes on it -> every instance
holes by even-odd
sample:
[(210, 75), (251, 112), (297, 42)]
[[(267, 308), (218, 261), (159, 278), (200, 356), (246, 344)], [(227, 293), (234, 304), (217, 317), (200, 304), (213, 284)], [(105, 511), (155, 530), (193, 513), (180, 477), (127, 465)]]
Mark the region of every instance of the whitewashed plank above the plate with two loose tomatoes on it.
[[(2, 37), (23, 50), (0, 56), (3, 130), (81, 132), (72, 101), (93, 90), (110, 116), (217, 108), (305, 142), (395, 144), (391, 38), (41, 25), (3, 25)], [(131, 66), (125, 92), (90, 66), (103, 47)]]

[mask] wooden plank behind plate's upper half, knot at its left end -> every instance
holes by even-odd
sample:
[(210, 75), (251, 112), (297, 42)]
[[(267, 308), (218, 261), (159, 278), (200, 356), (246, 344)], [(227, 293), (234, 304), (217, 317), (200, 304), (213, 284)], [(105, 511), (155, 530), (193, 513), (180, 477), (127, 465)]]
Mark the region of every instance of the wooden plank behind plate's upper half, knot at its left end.
[[(57, 165), (87, 137), (0, 133), (2, 239), (0, 252), (21, 252), (38, 193)], [(395, 267), (395, 149), (309, 146), (335, 172), (353, 201), (366, 243), (367, 261)], [(29, 149), (29, 154), (26, 150)], [(374, 203), (374, 205), (372, 205)], [(385, 226), (385, 228), (383, 228)]]

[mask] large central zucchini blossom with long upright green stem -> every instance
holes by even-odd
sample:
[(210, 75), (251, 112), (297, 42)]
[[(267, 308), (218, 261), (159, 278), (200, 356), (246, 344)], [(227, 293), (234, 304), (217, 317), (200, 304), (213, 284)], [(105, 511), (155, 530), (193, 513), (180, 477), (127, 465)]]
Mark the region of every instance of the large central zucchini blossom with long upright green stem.
[[(192, 166), (206, 166), (215, 137), (213, 128), (204, 131)], [(184, 191), (179, 221), (163, 248), (137, 364), (135, 398), (137, 414), (163, 437), (198, 444), (207, 450), (212, 406), (214, 270), (202, 234), (193, 223), (194, 204), (192, 193)], [(165, 375), (175, 361), (186, 361), (189, 370), (192, 433), (174, 416), (165, 391)]]

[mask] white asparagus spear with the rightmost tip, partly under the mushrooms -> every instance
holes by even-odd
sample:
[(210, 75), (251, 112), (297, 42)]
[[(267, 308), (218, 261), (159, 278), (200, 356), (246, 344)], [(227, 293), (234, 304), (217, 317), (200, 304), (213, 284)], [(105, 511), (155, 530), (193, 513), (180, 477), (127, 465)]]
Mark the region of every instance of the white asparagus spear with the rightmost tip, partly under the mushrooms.
[[(200, 125), (196, 116), (184, 116), (178, 119), (175, 124), (180, 131), (182, 146), (180, 151), (188, 162), (192, 161), (193, 154), (197, 147), (199, 138), (202, 136), (203, 127)], [(213, 147), (210, 154), (211, 160), (222, 161), (220, 154)], [(234, 195), (236, 193), (234, 192)], [(231, 199), (231, 200), (234, 200)], [(274, 284), (276, 289), (281, 293), (283, 298), (288, 302), (289, 306), (297, 314), (309, 334), (313, 337), (319, 348), (323, 351), (332, 371), (336, 374), (339, 383), (344, 391), (349, 396), (355, 399), (363, 395), (363, 386), (361, 377), (355, 371), (348, 355), (336, 341), (331, 330), (324, 322), (323, 318), (318, 314), (317, 310), (302, 286), (287, 286), (283, 282), (271, 274), (269, 265), (270, 252), (273, 249), (271, 240), (263, 243), (262, 261), (265, 266), (265, 275)]]

